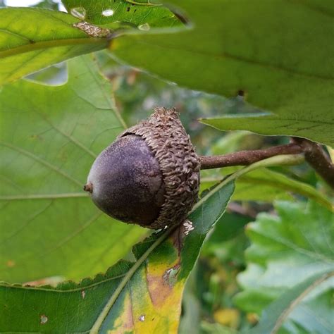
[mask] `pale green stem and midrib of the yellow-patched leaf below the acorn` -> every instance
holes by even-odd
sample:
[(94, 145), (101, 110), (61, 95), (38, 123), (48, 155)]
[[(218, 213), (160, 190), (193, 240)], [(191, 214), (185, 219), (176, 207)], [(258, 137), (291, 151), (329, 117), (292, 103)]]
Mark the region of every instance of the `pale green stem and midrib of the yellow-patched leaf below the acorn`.
[[(253, 171), (256, 168), (260, 167), (267, 167), (267, 166), (277, 166), (277, 165), (291, 165), (291, 164), (299, 164), (304, 161), (304, 156), (302, 154), (289, 154), (289, 155), (279, 155), (279, 156), (272, 156), (271, 158), (264, 159), (261, 161), (257, 161), (256, 163), (253, 163), (252, 165), (249, 165), (245, 168), (242, 168), (240, 171), (237, 171), (233, 173), (232, 175), (228, 176), (228, 178), (225, 178), (217, 187), (215, 187), (211, 192), (206, 194), (206, 196), (202, 197), (202, 199), (197, 202), (189, 214), (192, 214), (195, 210), (199, 208), (204, 202), (206, 202), (209, 197), (211, 197), (213, 194), (221, 190), (222, 187), (224, 187), (226, 184), (230, 183), (231, 181), (235, 180), (236, 178), (239, 178), (241, 175), (248, 173), (249, 171)], [(109, 298), (109, 301), (104, 306), (103, 310), (101, 311), (101, 314), (99, 314), (97, 320), (94, 322), (91, 330), (89, 330), (90, 334), (97, 334), (99, 333), (99, 329), (102, 326), (102, 323), (104, 322), (104, 319), (106, 316), (108, 316), (109, 311), (113, 307), (113, 304), (116, 302), (116, 299), (119, 297), (120, 292), (122, 292), (123, 287), (128, 283), (128, 281), (132, 278), (134, 273), (137, 271), (138, 268), (142, 265), (142, 263), (147, 259), (149, 254), (153, 252), (153, 250), (158, 247), (163, 240), (166, 240), (166, 238), (171, 235), (171, 233), (177, 228), (175, 226), (174, 228), (171, 228), (170, 230), (166, 230), (156, 241), (147, 249), (142, 256), (140, 256), (139, 259), (133, 264), (133, 266), (130, 268), (128, 273), (125, 274), (123, 279), (120, 281), (120, 284), (116, 288), (116, 290), (113, 292), (111, 297)]]

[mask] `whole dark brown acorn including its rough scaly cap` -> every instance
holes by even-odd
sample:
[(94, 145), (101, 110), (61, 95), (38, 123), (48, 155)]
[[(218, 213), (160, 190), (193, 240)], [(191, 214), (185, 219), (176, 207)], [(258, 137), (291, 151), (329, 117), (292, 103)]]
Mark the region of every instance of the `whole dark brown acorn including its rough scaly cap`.
[(200, 164), (175, 109), (157, 107), (99, 154), (84, 190), (109, 216), (146, 228), (185, 221), (197, 201)]

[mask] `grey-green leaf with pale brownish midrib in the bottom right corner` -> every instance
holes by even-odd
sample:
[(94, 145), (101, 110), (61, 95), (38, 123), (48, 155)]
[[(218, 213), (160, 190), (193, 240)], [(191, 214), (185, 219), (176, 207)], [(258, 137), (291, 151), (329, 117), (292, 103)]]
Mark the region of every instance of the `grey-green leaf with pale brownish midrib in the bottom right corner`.
[[(282, 326), (285, 318), (290, 315), (290, 312), (293, 311), (297, 304), (302, 302), (302, 299), (307, 297), (307, 295), (312, 290), (314, 290), (316, 287), (318, 287), (318, 285), (323, 283), (324, 280), (330, 278), (330, 276), (333, 276), (333, 274), (334, 273), (317, 273), (316, 275), (307, 278), (307, 280), (304, 280), (302, 283), (299, 283), (291, 289), (287, 290), (287, 292), (283, 293), (282, 296), (280, 296), (275, 302), (270, 304), (269, 307), (265, 309), (259, 324), (252, 328), (252, 330), (248, 330), (247, 333), (277, 333), (280, 326)], [(324, 304), (326, 305), (326, 302), (323, 303), (323, 305)], [(314, 311), (316, 311), (316, 309)], [(326, 313), (330, 313), (330, 311), (328, 311), (329, 310), (327, 309)], [(321, 320), (325, 320), (323, 322), (326, 323), (326, 319)], [(320, 326), (319, 328), (310, 328), (311, 333), (325, 333), (327, 330), (328, 333), (330, 333), (330, 323), (328, 323), (328, 325), (327, 328), (326, 326)], [(316, 332), (313, 330), (316, 330)]]

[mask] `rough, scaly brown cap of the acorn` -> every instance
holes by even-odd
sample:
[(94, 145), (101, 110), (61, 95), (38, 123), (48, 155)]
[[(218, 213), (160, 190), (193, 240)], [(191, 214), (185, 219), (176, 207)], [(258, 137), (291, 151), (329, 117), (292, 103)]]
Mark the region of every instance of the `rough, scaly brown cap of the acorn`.
[(159, 161), (165, 184), (165, 201), (159, 216), (147, 227), (183, 223), (197, 201), (200, 163), (178, 112), (156, 107), (148, 120), (142, 120), (118, 137), (127, 135), (138, 135), (145, 140)]

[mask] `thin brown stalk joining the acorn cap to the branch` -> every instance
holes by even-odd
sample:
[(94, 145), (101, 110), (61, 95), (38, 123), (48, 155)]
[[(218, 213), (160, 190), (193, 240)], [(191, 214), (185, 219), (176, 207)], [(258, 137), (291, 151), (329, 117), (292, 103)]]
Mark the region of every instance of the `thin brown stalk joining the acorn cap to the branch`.
[(270, 147), (268, 149), (238, 151), (223, 156), (199, 156), (199, 161), (201, 161), (201, 169), (212, 169), (228, 166), (247, 166), (256, 161), (270, 158), (271, 156), (298, 153), (302, 153), (302, 147), (300, 147), (299, 144), (291, 143)]

